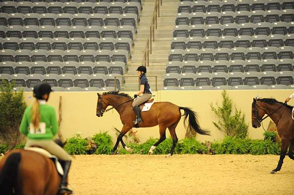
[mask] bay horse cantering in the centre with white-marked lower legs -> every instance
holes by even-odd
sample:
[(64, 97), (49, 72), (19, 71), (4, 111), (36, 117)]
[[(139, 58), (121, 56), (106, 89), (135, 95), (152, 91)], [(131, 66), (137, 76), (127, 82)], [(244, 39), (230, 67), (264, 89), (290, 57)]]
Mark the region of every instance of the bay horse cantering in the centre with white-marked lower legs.
[[(130, 148), (126, 147), (123, 142), (123, 136), (130, 129), (134, 127), (133, 121), (135, 120), (135, 112), (132, 108), (133, 99), (125, 93), (120, 93), (119, 91), (108, 91), (103, 94), (98, 94), (97, 101), (97, 109), (96, 115), (98, 117), (103, 116), (103, 113), (112, 109), (109, 108), (106, 110), (108, 106), (112, 106), (115, 108), (120, 114), (121, 121), (123, 123), (123, 128), (121, 133), (119, 134), (116, 144), (113, 147), (112, 154), (117, 150), (119, 143), (121, 142), (123, 148), (128, 152), (131, 151)], [(142, 107), (142, 105), (141, 105)], [(209, 135), (209, 131), (202, 130), (198, 125), (196, 112), (186, 107), (178, 107), (170, 102), (155, 102), (152, 107), (148, 111), (144, 111), (141, 113), (141, 117), (143, 119), (143, 123), (139, 124), (139, 128), (147, 128), (159, 126), (160, 138), (159, 140), (151, 146), (149, 150), (149, 154), (153, 153), (153, 150), (158, 146), (162, 141), (166, 139), (166, 129), (170, 130), (170, 134), (172, 136), (172, 149), (168, 154), (172, 156), (178, 138), (175, 133), (175, 128), (181, 119), (181, 111), (184, 110), (184, 125), (186, 130), (195, 130), (199, 134)], [(189, 125), (187, 127), (185, 121), (189, 116)]]

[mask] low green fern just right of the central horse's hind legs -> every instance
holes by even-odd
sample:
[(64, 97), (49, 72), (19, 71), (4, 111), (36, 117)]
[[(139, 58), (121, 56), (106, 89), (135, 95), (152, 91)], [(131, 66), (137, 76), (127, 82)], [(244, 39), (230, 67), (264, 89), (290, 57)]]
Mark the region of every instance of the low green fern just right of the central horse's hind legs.
[(208, 151), (207, 147), (197, 141), (195, 138), (185, 138), (178, 142), (178, 152), (182, 154), (203, 154)]

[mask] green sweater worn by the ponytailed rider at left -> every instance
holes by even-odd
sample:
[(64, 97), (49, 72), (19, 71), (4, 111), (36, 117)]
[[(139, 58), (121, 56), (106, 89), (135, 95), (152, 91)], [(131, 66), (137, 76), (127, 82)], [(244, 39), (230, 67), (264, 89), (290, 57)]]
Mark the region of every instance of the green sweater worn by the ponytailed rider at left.
[[(41, 120), (40, 124), (46, 124), (45, 132), (33, 132), (29, 130), (30, 121), (31, 121), (31, 106), (25, 109), (23, 120), (20, 126), (20, 131), (28, 139), (33, 140), (50, 140), (53, 139), (54, 135), (58, 132), (58, 125), (56, 121), (55, 109), (52, 106), (46, 104), (40, 104), (39, 106)], [(41, 127), (41, 125), (40, 125)]]

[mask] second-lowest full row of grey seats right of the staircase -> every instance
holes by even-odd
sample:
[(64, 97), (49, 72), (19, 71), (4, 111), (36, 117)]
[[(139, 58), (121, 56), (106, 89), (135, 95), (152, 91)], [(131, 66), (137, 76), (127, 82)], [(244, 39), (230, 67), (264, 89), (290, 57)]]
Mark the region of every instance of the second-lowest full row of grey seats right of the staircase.
[(264, 71), (293, 71), (293, 59), (280, 60), (233, 60), (233, 61), (172, 61), (166, 64), (167, 73), (198, 72), (264, 72)]

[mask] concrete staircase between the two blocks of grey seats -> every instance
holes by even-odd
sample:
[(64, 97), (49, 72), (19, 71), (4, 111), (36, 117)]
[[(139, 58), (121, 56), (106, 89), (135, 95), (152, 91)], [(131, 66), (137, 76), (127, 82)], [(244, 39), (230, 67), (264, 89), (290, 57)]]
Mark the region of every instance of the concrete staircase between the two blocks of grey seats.
[[(168, 54), (171, 48), (172, 29), (177, 13), (179, 0), (163, 0), (160, 6), (160, 18), (157, 18), (157, 30), (155, 30), (155, 42), (152, 42), (152, 54), (149, 54), (149, 66), (147, 76), (152, 90), (155, 90), (155, 77), (157, 76), (157, 89), (163, 87), (163, 75), (168, 62)], [(146, 41), (149, 38), (149, 29), (154, 10), (155, 0), (144, 0), (143, 10), (140, 14), (140, 24), (137, 26), (138, 34), (134, 38), (135, 46), (131, 49), (132, 59), (128, 61), (128, 71), (125, 76), (137, 75), (136, 68), (141, 65)], [(125, 78), (121, 90), (138, 90), (138, 78)]]

